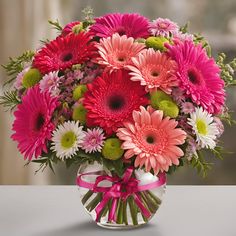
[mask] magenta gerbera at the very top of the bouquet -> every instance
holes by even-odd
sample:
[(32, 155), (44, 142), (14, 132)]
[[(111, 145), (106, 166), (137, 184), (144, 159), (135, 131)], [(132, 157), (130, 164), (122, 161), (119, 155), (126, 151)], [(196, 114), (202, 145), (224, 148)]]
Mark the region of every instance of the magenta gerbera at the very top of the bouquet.
[(147, 18), (135, 14), (112, 13), (95, 19), (96, 22), (90, 27), (92, 34), (107, 38), (114, 33), (126, 35), (127, 37), (147, 38), (149, 36)]

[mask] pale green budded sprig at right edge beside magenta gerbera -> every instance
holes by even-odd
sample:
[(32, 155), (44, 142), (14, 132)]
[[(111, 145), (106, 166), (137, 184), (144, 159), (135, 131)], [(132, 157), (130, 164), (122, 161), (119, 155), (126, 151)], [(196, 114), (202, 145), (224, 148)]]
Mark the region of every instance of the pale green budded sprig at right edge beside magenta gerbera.
[(234, 74), (236, 71), (236, 58), (232, 61), (226, 63), (226, 55), (224, 53), (219, 53), (216, 59), (217, 65), (221, 69), (221, 78), (225, 82), (225, 86), (236, 85), (236, 80)]

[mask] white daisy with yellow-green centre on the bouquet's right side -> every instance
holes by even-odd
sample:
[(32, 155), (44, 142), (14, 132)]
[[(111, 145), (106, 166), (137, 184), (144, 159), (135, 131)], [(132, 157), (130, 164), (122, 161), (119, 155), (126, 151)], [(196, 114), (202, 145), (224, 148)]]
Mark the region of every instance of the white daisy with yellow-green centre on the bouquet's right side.
[(200, 147), (213, 149), (216, 146), (218, 129), (211, 114), (198, 107), (190, 114), (188, 124), (192, 126)]

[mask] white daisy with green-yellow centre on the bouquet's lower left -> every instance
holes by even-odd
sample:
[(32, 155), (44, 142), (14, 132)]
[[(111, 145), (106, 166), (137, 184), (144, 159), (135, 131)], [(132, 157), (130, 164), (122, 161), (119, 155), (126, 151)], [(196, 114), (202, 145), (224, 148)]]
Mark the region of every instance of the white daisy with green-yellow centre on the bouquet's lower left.
[(78, 151), (85, 136), (82, 129), (78, 121), (67, 121), (57, 127), (52, 135), (51, 150), (56, 152), (58, 158), (71, 158)]

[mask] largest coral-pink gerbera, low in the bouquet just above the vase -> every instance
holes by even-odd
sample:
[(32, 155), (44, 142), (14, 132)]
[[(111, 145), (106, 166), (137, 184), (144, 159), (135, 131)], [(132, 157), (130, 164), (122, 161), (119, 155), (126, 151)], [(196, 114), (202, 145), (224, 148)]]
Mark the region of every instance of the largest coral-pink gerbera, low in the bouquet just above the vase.
[(123, 140), (122, 148), (125, 158), (135, 157), (135, 167), (145, 165), (146, 171), (153, 169), (168, 171), (172, 164), (178, 165), (184, 155), (181, 145), (185, 142), (186, 133), (176, 128), (178, 122), (169, 117), (163, 118), (163, 112), (148, 107), (140, 107), (133, 112), (134, 122), (125, 122), (125, 128), (119, 128), (117, 136)]

